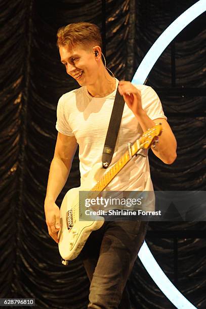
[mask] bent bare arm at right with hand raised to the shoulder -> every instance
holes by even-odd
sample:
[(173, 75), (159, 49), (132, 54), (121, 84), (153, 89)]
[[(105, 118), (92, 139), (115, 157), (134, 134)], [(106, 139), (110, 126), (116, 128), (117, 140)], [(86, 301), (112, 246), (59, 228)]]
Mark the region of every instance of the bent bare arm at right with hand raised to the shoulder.
[(162, 162), (172, 164), (177, 158), (177, 142), (167, 120), (163, 118), (152, 120), (149, 118), (145, 110), (142, 108), (141, 91), (132, 85), (131, 82), (120, 81), (118, 89), (128, 107), (137, 117), (143, 132), (148, 128), (155, 126), (156, 123), (162, 124), (162, 133), (161, 136), (159, 136), (158, 143), (156, 143), (155, 148), (152, 147), (151, 149), (155, 156), (157, 156)]

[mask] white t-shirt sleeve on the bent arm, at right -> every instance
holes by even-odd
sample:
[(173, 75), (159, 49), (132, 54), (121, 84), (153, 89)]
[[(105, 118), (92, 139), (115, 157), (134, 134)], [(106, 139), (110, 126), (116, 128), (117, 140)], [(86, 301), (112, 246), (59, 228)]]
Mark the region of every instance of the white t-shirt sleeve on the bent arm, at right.
[(163, 118), (167, 120), (162, 110), (161, 101), (150, 86), (142, 91), (142, 108), (145, 110), (146, 114), (151, 120), (157, 118)]

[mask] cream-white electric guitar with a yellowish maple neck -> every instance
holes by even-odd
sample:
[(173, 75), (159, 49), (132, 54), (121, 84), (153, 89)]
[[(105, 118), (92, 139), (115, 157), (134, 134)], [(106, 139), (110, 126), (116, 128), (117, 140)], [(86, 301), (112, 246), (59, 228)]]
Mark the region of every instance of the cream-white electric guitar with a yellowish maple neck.
[(103, 217), (98, 217), (98, 220), (95, 220), (94, 216), (87, 216), (87, 221), (79, 220), (82, 211), (79, 207), (79, 191), (87, 191), (88, 197), (95, 198), (140, 149), (148, 149), (151, 144), (154, 144), (161, 132), (161, 124), (156, 124), (148, 129), (133, 145), (128, 144), (128, 150), (112, 168), (104, 169), (102, 163), (96, 164), (80, 187), (72, 188), (65, 194), (60, 208), (61, 228), (58, 232), (58, 246), (63, 259), (62, 264), (67, 265), (68, 260), (75, 259), (91, 232), (98, 230), (104, 223)]

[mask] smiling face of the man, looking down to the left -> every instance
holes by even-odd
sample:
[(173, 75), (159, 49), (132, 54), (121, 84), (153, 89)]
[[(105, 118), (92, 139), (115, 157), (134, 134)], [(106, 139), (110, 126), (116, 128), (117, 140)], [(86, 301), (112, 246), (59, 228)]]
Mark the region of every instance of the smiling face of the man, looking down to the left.
[[(99, 50), (98, 47), (95, 50)], [(76, 45), (72, 49), (69, 49), (67, 45), (59, 47), (61, 62), (65, 65), (67, 74), (73, 77), (80, 86), (92, 85), (97, 79), (98, 64), (94, 54), (95, 50), (93, 47), (84, 49), (81, 45)]]

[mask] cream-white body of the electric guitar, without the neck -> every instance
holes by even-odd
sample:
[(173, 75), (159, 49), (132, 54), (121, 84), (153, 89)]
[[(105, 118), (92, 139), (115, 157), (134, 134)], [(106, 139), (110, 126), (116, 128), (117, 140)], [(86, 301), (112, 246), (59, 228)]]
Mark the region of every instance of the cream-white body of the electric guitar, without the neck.
[[(73, 260), (80, 253), (92, 231), (98, 230), (104, 223), (103, 217), (89, 217), (87, 221), (79, 220), (79, 191), (90, 191), (106, 172), (102, 164), (97, 164), (88, 174), (84, 184), (70, 189), (64, 196), (60, 208), (61, 229), (58, 232), (59, 252), (64, 260)], [(88, 188), (88, 185), (91, 187)], [(86, 210), (86, 208), (85, 208)], [(73, 226), (67, 227), (67, 212), (72, 211)], [(91, 219), (91, 221), (89, 221)], [(98, 219), (98, 220), (97, 220)]]

